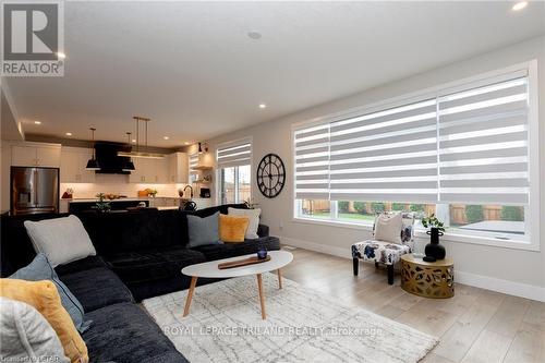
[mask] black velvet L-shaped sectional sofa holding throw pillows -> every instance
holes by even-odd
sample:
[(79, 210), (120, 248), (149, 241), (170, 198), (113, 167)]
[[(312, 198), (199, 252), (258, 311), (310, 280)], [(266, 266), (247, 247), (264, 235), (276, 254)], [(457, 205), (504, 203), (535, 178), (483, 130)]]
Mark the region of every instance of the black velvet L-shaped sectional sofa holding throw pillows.
[[(187, 265), (255, 253), (261, 246), (280, 249), (280, 241), (268, 235), (266, 226), (259, 226), (257, 240), (187, 249), (187, 214), (227, 214), (228, 207), (244, 206), (77, 215), (97, 256), (58, 266), (56, 271), (82, 303), (85, 318), (93, 320), (82, 335), (92, 362), (186, 362), (135, 302), (186, 289), (190, 278), (181, 269)], [(35, 256), (24, 220), (63, 216), (2, 216), (2, 277), (26, 266)], [(203, 285), (215, 280), (198, 281)]]

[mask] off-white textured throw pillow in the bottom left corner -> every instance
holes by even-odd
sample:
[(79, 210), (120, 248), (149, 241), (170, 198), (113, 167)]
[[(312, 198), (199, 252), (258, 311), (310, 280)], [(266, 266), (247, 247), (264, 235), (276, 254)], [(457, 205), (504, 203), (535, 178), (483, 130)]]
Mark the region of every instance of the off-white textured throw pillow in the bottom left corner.
[(51, 325), (21, 301), (0, 298), (0, 340), (2, 362), (70, 362)]

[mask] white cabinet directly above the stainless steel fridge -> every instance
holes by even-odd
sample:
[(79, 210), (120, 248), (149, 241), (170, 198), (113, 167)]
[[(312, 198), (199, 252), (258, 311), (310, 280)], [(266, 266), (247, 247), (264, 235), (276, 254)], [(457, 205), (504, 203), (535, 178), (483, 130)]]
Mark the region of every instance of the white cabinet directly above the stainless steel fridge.
[(11, 146), (11, 165), (15, 167), (59, 168), (61, 145), (23, 143)]

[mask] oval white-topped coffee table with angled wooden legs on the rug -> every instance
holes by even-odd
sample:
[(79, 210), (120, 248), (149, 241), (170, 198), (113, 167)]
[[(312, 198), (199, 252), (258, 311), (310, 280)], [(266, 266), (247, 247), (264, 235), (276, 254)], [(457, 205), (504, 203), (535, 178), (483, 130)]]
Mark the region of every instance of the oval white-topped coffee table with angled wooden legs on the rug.
[(287, 251), (269, 251), (268, 255), (270, 259), (264, 263), (219, 269), (218, 264), (222, 264), (226, 262), (244, 259), (247, 257), (256, 256), (255, 253), (244, 256), (237, 256), (231, 258), (223, 258), (217, 261), (210, 261), (207, 263), (191, 265), (184, 267), (182, 269), (182, 274), (186, 276), (191, 276), (191, 285), (190, 291), (187, 292), (187, 299), (185, 300), (185, 308), (183, 310), (183, 316), (186, 316), (190, 313), (191, 300), (193, 299), (193, 292), (195, 291), (195, 286), (197, 283), (197, 278), (231, 278), (231, 277), (241, 277), (249, 275), (257, 276), (257, 289), (259, 291), (259, 303), (262, 305), (262, 318), (266, 318), (265, 314), (265, 297), (263, 294), (263, 281), (262, 274), (276, 270), (278, 274), (278, 288), (282, 288), (282, 275), (280, 273), (280, 268), (288, 265), (293, 261), (293, 255)]

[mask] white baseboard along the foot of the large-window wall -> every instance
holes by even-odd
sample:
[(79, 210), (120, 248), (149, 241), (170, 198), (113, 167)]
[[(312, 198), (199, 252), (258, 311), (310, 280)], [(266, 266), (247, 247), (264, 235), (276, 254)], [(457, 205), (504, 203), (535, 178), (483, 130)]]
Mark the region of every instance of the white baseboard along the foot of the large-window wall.
[[(288, 237), (280, 237), (280, 241), (284, 245), (291, 245), (294, 247), (322, 252), (328, 255), (342, 258), (352, 258), (350, 249), (336, 247), (331, 245), (319, 244), (304, 240), (291, 239)], [(506, 293), (509, 295), (545, 302), (545, 288), (542, 287), (536, 287), (533, 285), (526, 285), (509, 280), (501, 280), (488, 276), (476, 275), (460, 270), (455, 271), (455, 278), (457, 282), (469, 285), (475, 288), (492, 290), (496, 292)]]

